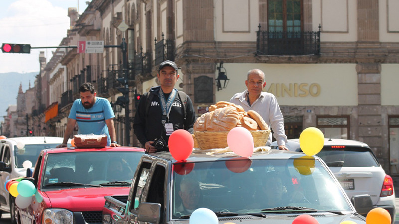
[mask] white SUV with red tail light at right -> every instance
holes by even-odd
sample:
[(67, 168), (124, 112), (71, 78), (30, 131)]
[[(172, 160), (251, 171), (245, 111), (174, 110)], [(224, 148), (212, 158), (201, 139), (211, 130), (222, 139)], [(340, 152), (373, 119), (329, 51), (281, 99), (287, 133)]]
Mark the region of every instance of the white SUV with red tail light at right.
[[(290, 151), (302, 151), (299, 139), (289, 139)], [(277, 142), (270, 144), (277, 148)], [(386, 209), (395, 222), (395, 191), (391, 176), (387, 175), (370, 147), (360, 141), (325, 138), (323, 149), (317, 153), (334, 173), (349, 198), (368, 194), (373, 206)], [(362, 214), (366, 216), (367, 214)]]

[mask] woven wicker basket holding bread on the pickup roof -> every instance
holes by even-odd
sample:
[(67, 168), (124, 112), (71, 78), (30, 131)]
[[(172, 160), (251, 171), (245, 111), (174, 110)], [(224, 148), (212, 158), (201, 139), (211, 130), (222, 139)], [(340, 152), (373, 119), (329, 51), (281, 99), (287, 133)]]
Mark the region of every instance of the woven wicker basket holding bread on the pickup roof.
[[(266, 145), (270, 130), (250, 131), (253, 137), (254, 147)], [(228, 131), (195, 131), (195, 141), (197, 141), (201, 150), (211, 148), (227, 147)], [(195, 144), (195, 143), (194, 143)]]

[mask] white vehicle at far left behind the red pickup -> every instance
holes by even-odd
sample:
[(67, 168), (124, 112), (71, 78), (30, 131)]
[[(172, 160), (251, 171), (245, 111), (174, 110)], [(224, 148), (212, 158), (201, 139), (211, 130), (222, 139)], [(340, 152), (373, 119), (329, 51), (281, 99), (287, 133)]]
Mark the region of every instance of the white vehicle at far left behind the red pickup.
[(55, 148), (62, 141), (62, 137), (45, 136), (0, 140), (0, 217), (3, 212), (9, 212), (11, 223), (15, 223), (15, 198), (4, 188), (4, 184), (9, 179), (26, 176), (26, 170), (33, 170), (42, 149)]

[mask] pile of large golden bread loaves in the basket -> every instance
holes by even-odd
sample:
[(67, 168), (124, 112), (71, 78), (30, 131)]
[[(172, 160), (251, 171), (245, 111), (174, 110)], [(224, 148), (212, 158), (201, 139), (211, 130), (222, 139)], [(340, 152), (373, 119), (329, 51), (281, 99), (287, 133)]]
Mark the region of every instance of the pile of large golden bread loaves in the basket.
[(255, 111), (247, 111), (236, 104), (219, 101), (209, 107), (209, 112), (197, 118), (194, 131), (230, 131), (234, 127), (248, 130), (268, 130), (262, 116)]

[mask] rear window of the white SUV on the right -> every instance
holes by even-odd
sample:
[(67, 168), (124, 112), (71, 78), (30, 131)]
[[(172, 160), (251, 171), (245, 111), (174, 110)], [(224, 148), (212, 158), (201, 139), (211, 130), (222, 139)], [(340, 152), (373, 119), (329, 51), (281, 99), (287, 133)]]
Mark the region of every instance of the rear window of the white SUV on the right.
[(370, 149), (346, 147), (323, 148), (317, 156), (329, 167), (378, 167), (379, 163)]

